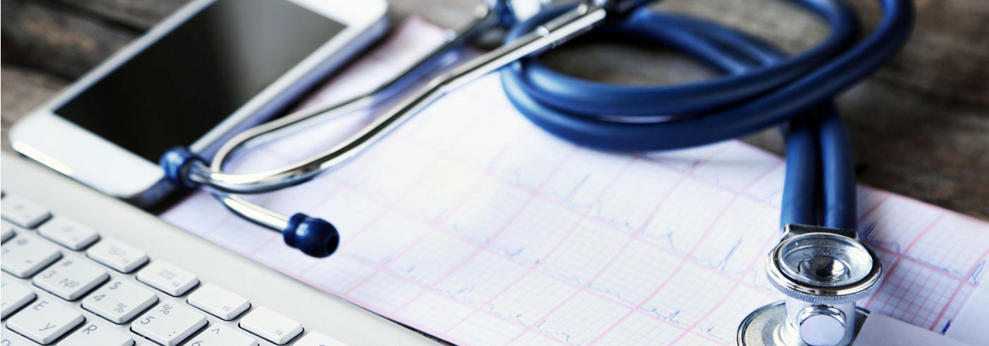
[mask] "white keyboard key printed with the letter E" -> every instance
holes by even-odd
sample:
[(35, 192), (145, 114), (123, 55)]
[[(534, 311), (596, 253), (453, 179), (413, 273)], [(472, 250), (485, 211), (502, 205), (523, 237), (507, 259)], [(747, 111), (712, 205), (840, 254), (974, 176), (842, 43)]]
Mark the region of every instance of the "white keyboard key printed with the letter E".
[(47, 345), (85, 320), (86, 317), (72, 307), (40, 299), (10, 317), (7, 327), (37, 343)]

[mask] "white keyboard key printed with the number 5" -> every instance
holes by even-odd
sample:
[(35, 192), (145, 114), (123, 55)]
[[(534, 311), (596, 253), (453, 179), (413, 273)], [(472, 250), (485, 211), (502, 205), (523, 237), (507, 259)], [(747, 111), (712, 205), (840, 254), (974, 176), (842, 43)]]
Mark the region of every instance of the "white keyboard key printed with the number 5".
[(165, 301), (145, 312), (131, 330), (164, 346), (178, 345), (206, 325), (206, 316), (185, 304)]

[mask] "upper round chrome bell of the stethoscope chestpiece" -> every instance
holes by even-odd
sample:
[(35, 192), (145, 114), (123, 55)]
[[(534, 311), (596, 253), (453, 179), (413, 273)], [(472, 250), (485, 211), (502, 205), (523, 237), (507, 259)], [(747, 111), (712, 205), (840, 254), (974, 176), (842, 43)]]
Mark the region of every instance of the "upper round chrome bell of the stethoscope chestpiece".
[(879, 288), (882, 265), (868, 247), (833, 233), (805, 233), (781, 241), (766, 276), (784, 295), (808, 303), (854, 303)]

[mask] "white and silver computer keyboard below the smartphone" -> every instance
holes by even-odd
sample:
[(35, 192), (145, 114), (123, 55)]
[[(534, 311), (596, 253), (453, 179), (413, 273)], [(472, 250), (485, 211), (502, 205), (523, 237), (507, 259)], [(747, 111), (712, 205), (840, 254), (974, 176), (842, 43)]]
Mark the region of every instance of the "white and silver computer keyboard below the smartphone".
[(34, 163), (3, 159), (0, 346), (436, 345)]

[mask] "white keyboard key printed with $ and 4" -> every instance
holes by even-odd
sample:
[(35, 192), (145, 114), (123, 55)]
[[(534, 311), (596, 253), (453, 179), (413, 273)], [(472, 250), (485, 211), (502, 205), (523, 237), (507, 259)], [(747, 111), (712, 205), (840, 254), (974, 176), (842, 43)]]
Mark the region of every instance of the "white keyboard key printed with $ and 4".
[(151, 290), (135, 282), (114, 279), (83, 299), (82, 308), (124, 324), (154, 303), (158, 303), (158, 297)]

